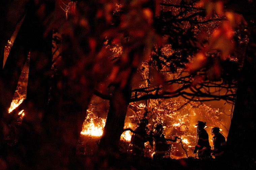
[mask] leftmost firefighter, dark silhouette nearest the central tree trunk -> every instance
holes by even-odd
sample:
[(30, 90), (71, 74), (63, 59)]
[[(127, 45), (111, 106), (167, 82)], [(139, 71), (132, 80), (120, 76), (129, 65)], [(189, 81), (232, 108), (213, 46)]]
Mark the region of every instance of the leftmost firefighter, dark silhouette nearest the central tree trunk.
[(148, 119), (141, 119), (139, 126), (134, 130), (132, 134), (130, 145), (128, 148), (128, 153), (136, 156), (144, 156), (145, 142), (147, 142), (148, 135), (146, 131), (146, 126), (148, 124)]

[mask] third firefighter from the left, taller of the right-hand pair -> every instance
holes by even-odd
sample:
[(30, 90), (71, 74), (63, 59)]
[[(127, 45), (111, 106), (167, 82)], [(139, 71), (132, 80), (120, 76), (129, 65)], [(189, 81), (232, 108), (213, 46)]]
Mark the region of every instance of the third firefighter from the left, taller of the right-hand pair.
[(212, 150), (209, 143), (209, 135), (204, 129), (205, 122), (197, 121), (196, 126), (198, 130), (198, 140), (193, 153), (196, 154), (198, 151), (198, 158), (200, 159), (210, 158)]

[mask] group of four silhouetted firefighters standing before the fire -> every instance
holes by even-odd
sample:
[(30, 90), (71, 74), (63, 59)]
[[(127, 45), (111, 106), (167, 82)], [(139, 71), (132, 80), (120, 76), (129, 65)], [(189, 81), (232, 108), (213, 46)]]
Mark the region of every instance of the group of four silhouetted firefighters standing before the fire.
[[(145, 143), (149, 141), (150, 145), (153, 146), (153, 159), (162, 159), (168, 153), (170, 145), (167, 141), (176, 141), (175, 139), (167, 139), (163, 134), (163, 125), (161, 123), (154, 126), (154, 130), (147, 134), (146, 126), (148, 125), (148, 119), (143, 118), (140, 120), (139, 126), (134, 130), (132, 134), (128, 153), (136, 156), (144, 156)], [(194, 154), (198, 153), (198, 158), (205, 159), (214, 156), (220, 158), (224, 152), (226, 144), (225, 137), (220, 133), (220, 128), (212, 128), (213, 136), (213, 148), (209, 143), (209, 135), (204, 129), (205, 122), (197, 121), (197, 143), (194, 149)]]

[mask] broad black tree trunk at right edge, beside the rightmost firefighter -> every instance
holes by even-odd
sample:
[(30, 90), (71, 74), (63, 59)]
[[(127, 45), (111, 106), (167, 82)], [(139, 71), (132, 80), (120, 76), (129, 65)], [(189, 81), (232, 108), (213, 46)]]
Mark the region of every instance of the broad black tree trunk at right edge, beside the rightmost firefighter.
[[(226, 156), (250, 166), (256, 161), (256, 26), (252, 26), (227, 137)], [(244, 168), (244, 167), (241, 167)]]

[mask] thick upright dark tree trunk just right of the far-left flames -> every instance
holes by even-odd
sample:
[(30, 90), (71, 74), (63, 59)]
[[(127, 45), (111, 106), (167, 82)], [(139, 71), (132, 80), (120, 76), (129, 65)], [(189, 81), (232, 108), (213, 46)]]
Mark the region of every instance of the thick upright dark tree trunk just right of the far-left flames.
[[(49, 34), (47, 38), (43, 38), (43, 26), (39, 22), (37, 34), (33, 37), (33, 45), (30, 51), (30, 65), (29, 76), (27, 86), (27, 97), (25, 105), (25, 116), (22, 122), (22, 133), (19, 139), (19, 146), (27, 149), (26, 164), (35, 163), (35, 158), (42, 153), (45, 156), (49, 153), (48, 148), (51, 144), (47, 132), (49, 129), (49, 112), (47, 112), (47, 104), (49, 97), (49, 82), (51, 77), (51, 60), (52, 60), (52, 34)], [(41, 26), (40, 26), (41, 25)], [(33, 166), (32, 166), (33, 167)]]

